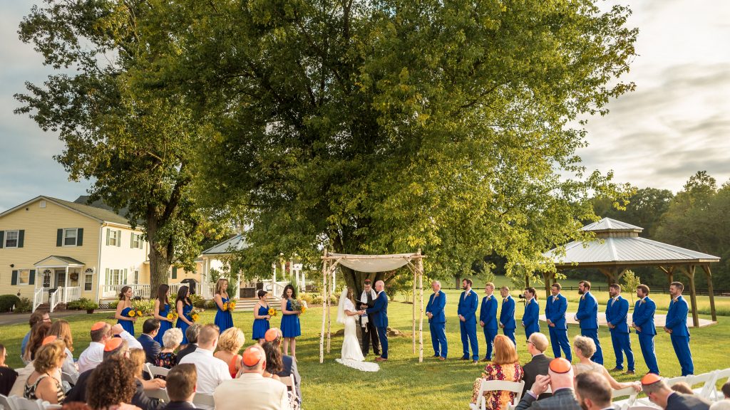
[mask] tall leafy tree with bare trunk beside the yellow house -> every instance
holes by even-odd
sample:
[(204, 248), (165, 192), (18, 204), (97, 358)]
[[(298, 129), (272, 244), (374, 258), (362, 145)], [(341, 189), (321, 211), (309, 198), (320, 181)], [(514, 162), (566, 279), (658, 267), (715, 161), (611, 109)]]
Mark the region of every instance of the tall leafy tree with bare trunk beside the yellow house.
[[(91, 200), (128, 209), (150, 243), (153, 289), (171, 263), (193, 268), (204, 234), (216, 236), (196, 204), (192, 181), (201, 125), (185, 96), (145, 85), (147, 73), (174, 53), (152, 1), (45, 0), (20, 23), (58, 74), (26, 83), (16, 95), (45, 131), (65, 144), (56, 155), (69, 178), (90, 179)], [(150, 45), (157, 47), (150, 47)]]

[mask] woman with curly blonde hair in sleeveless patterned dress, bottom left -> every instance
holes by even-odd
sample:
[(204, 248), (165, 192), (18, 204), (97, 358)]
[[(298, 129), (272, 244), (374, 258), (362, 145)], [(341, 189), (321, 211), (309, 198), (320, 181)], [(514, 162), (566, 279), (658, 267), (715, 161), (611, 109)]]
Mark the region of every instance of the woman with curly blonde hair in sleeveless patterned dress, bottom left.
[[(55, 337), (54, 337), (55, 339)], [(32, 340), (32, 335), (31, 335)], [(30, 344), (28, 344), (30, 348)], [(28, 377), (23, 397), (30, 400), (42, 399), (51, 404), (64, 401), (64, 389), (61, 382), (53, 376), (61, 371), (64, 364), (66, 345), (64, 341), (55, 340), (40, 347), (33, 361), (35, 371)]]

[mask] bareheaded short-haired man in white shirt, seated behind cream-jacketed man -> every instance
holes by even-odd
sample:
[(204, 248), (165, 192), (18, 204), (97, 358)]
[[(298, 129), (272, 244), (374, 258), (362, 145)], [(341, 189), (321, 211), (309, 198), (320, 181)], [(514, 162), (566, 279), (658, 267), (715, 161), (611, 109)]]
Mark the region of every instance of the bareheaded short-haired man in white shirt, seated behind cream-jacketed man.
[[(198, 371), (198, 382), (195, 391), (198, 393), (212, 395), (219, 384), (231, 379), (231, 374), (228, 373), (228, 364), (218, 359), (218, 357), (213, 357), (213, 351), (218, 346), (219, 331), (216, 325), (204, 325), (198, 336), (198, 348), (195, 352), (180, 360), (180, 364), (192, 363), (195, 365)], [(235, 401), (234, 404), (240, 406), (240, 403)], [(210, 406), (203, 405), (200, 405), (199, 408), (213, 409)]]

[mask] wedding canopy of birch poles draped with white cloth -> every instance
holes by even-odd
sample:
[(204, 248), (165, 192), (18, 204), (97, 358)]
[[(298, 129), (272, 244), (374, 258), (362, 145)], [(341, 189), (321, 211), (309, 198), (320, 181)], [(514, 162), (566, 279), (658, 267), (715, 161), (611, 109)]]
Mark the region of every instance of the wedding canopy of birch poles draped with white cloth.
[[(335, 271), (338, 265), (347, 266), (358, 272), (393, 271), (407, 266), (413, 274), (413, 309), (412, 309), (412, 341), (415, 355), (415, 296), (418, 289), (418, 362), (423, 362), (423, 258), (420, 250), (416, 253), (399, 253), (396, 255), (350, 255), (345, 253), (327, 253), (322, 257), (322, 330), (320, 332), (320, 363), (324, 363), (324, 333), (327, 330), (327, 352), (331, 345), (331, 318), (329, 314), (329, 295), (335, 290)], [(415, 265), (412, 263), (415, 262)], [(418, 282), (418, 286), (416, 285)], [(325, 329), (326, 325), (326, 329)]]

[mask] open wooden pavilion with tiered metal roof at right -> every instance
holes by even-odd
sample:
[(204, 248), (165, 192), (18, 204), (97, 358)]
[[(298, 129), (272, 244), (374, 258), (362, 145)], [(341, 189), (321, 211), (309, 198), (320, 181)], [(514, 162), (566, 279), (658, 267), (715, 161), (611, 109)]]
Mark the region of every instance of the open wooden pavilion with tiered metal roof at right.
[[(557, 249), (545, 252), (558, 270), (575, 268), (596, 268), (607, 276), (609, 283), (618, 283), (621, 276), (629, 268), (637, 266), (657, 266), (667, 276), (669, 282), (674, 281), (675, 271), (683, 272), (689, 279), (689, 290), (692, 304), (692, 320), (699, 327), (697, 314), (697, 295), (694, 286), (694, 274), (699, 266), (707, 276), (707, 290), (710, 293), (710, 312), (712, 320), (717, 321), (715, 313), (715, 295), (712, 293), (712, 271), (710, 263), (720, 260), (717, 256), (688, 250), (674, 245), (664, 244), (650, 239), (640, 238), (644, 228), (623, 223), (611, 218), (603, 218), (598, 222), (585, 225), (583, 231), (593, 232), (591, 241), (572, 241), (564, 246), (565, 254)], [(545, 276), (545, 290), (550, 294), (550, 284), (556, 282), (555, 274)], [(548, 277), (552, 276), (552, 277)], [(550, 282), (552, 280), (552, 282)]]

